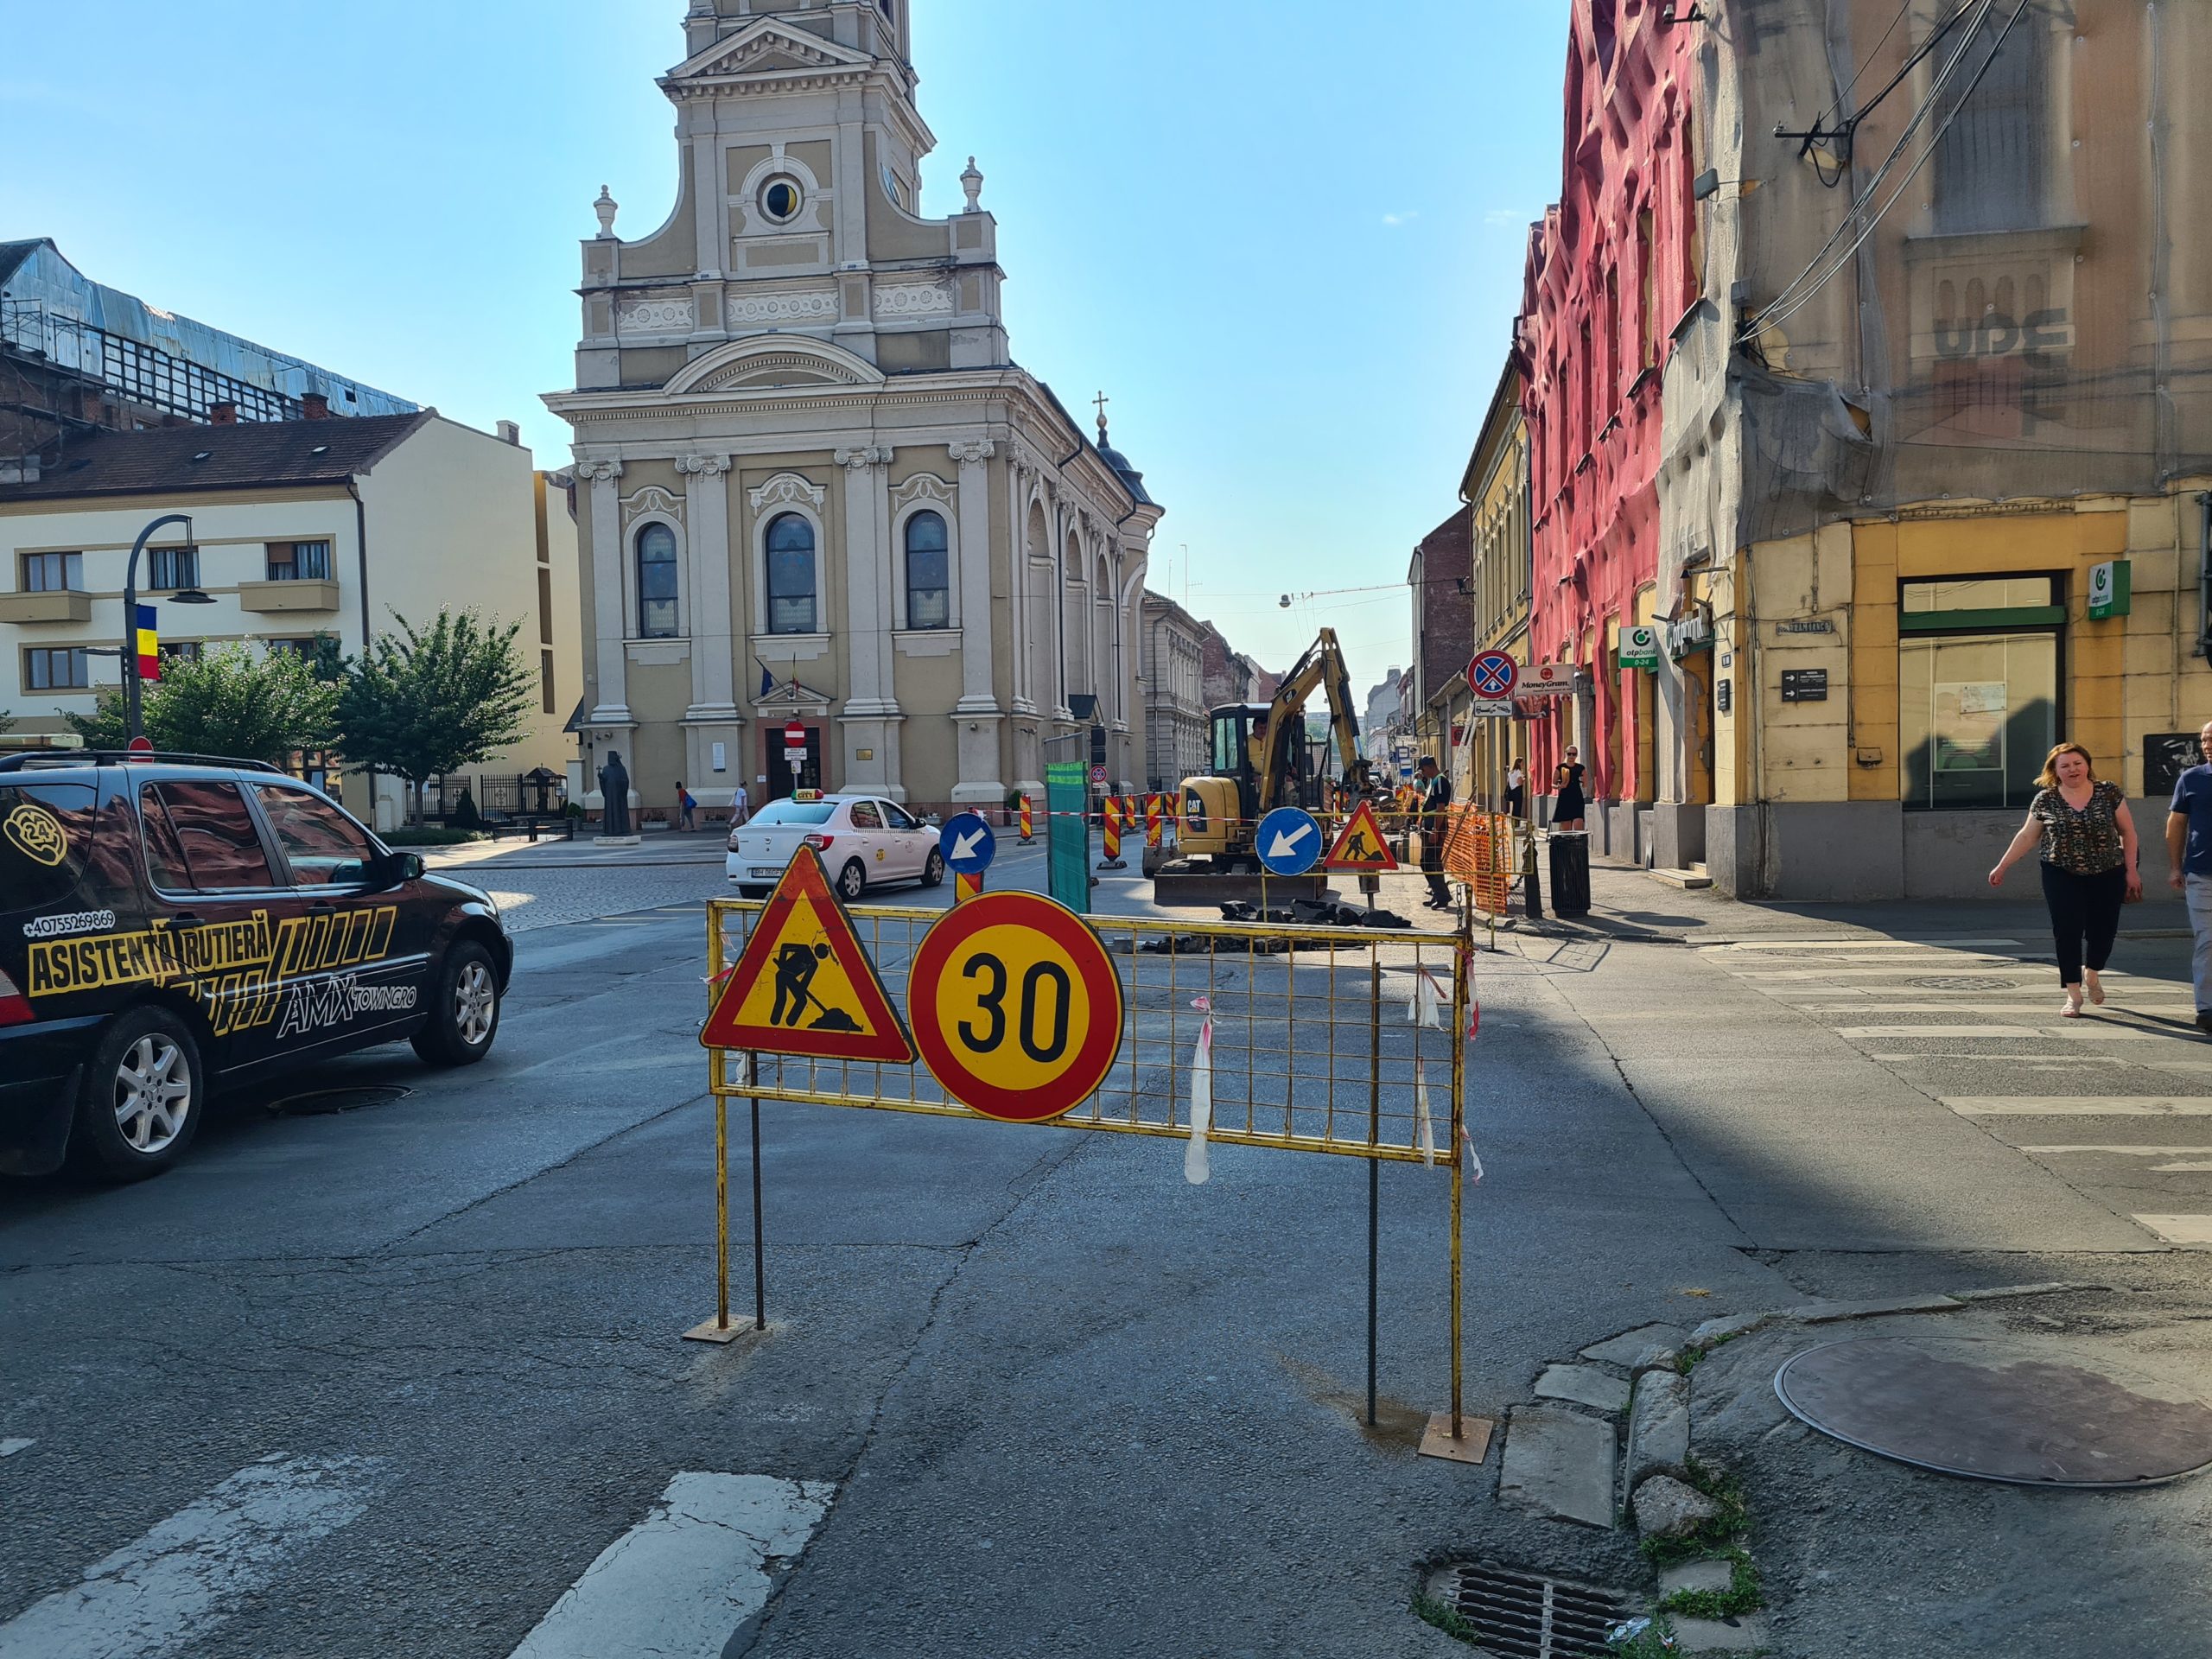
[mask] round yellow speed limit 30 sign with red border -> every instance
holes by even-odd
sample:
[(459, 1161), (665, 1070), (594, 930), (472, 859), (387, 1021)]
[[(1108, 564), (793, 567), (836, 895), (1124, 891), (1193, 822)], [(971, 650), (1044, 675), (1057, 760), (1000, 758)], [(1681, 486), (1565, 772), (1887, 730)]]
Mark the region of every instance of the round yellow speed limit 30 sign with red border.
[(1121, 1053), (1121, 975), (1084, 920), (1037, 894), (945, 914), (907, 980), (914, 1046), (962, 1106), (1044, 1124), (1088, 1099)]

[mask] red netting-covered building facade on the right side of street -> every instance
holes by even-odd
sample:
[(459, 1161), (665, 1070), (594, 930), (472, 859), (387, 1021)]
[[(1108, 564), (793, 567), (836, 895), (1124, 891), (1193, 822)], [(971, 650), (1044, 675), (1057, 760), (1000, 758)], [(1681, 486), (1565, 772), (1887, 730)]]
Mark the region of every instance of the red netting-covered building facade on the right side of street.
[[(1652, 675), (1619, 633), (1659, 573), (1659, 369), (1699, 301), (1692, 133), (1701, 24), (1666, 0), (1575, 0), (1559, 201), (1528, 230), (1513, 354), (1528, 425), (1531, 661), (1584, 690), (1528, 732), (1537, 787), (1568, 743), (1595, 849), (1628, 854), (1652, 796)], [(1641, 615), (1639, 615), (1641, 604)], [(1610, 812), (1599, 803), (1613, 803)]]

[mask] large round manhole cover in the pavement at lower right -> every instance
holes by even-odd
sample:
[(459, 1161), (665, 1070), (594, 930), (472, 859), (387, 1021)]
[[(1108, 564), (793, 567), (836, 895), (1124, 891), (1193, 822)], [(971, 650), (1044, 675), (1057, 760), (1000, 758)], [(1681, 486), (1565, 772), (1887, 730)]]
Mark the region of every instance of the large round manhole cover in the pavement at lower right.
[(2022, 1486), (2148, 1486), (2212, 1467), (2212, 1407), (2033, 1340), (1863, 1336), (1774, 1374), (1798, 1418), (1920, 1469)]

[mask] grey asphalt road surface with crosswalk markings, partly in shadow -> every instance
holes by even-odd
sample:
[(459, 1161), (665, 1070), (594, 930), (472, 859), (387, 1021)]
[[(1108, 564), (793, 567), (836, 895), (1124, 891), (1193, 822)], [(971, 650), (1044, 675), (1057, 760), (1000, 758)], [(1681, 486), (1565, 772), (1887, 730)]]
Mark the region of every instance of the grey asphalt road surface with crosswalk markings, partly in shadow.
[[(1217, 1148), (1190, 1186), (1172, 1139), (770, 1104), (772, 1329), (679, 1340), (714, 1290), (692, 1033), (719, 869), (493, 880), (540, 918), (639, 883), (650, 909), (522, 936), (484, 1066), (374, 1051), (292, 1088), (411, 1093), (243, 1097), (159, 1181), (0, 1188), (0, 1659), (1438, 1655), (1462, 1650), (1407, 1610), (1422, 1562), (1648, 1584), (1626, 1535), (1500, 1509), (1495, 1453), (1411, 1455), (1447, 1396), (1447, 1183), (1420, 1166), (1380, 1172), (1378, 1431), (1352, 1159)], [(1137, 909), (1126, 883), (1102, 907)], [(1650, 1318), (2088, 1267), (2201, 1371), (2208, 1261), (2137, 1217), (2212, 1212), (2212, 1170), (2170, 1168), (2212, 1164), (2188, 1128), (2212, 1046), (2159, 1018), (2179, 947), (2121, 949), (2139, 978), (2081, 1029), (2126, 1035), (2053, 1035), (2020, 989), (2048, 967), (1991, 940), (1484, 956), (1469, 1409)], [(1303, 1046), (1259, 1022), (1259, 1068)], [(732, 1164), (743, 1228), (743, 1141)], [(743, 1305), (743, 1232), (737, 1274)], [(1887, 1528), (1798, 1528), (1794, 1467), (1752, 1469), (1783, 1652), (1913, 1652), (1936, 1564), (1986, 1526), (1960, 1482), (1849, 1458)], [(2051, 1498), (2017, 1613), (1918, 1650), (2110, 1652), (2084, 1586), (2124, 1577), (2115, 1502)], [(2205, 1500), (2159, 1502), (2168, 1573), (2203, 1582)], [(2199, 1652), (2190, 1628), (2130, 1652)]]

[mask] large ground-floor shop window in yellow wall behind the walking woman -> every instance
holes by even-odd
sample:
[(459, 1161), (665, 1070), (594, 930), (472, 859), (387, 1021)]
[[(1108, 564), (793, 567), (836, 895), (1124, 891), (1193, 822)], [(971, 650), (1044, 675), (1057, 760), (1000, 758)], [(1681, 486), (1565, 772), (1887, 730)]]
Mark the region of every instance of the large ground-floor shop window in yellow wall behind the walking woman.
[(2057, 577), (1907, 582), (1898, 739), (1907, 810), (2024, 807), (2059, 728)]

